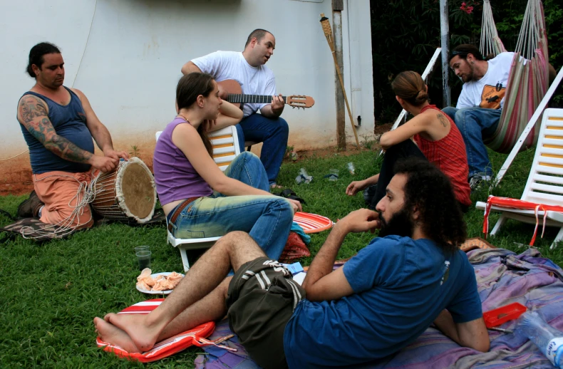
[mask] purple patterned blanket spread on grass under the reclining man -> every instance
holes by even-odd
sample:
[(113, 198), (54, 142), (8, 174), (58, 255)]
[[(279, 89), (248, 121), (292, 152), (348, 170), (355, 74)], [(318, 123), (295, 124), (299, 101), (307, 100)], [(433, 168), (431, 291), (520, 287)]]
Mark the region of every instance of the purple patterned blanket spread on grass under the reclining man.
[[(535, 309), (551, 325), (563, 331), (563, 270), (537, 249), (527, 249), (520, 255), (505, 249), (476, 249), (468, 253), (475, 268), (483, 311), (507, 303), (519, 302)], [(513, 329), (515, 321), (501, 328)], [(227, 321), (217, 325), (210, 337), (225, 336)], [(553, 368), (549, 360), (526, 338), (511, 333), (489, 331), (491, 348), (480, 353), (460, 347), (435, 328), (428, 328), (415, 342), (400, 352), (377, 363), (358, 368)], [(247, 356), (238, 341), (229, 345), (239, 349), (227, 353), (215, 347), (205, 348), (208, 355), (199, 355), (196, 368), (259, 368)]]

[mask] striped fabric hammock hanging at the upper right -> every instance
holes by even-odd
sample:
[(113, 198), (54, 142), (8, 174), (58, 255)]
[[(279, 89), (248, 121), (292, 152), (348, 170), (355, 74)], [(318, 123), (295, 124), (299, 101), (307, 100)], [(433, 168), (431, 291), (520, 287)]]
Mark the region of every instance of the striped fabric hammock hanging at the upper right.
[[(483, 3), (481, 28), (480, 51), (483, 56), (496, 56), (506, 51), (492, 19), (489, 0)], [(490, 149), (508, 153), (515, 146), (549, 87), (548, 59), (542, 1), (529, 0), (512, 59), (500, 121), (495, 133), (483, 138)], [(540, 122), (538, 119), (520, 150), (535, 145)]]

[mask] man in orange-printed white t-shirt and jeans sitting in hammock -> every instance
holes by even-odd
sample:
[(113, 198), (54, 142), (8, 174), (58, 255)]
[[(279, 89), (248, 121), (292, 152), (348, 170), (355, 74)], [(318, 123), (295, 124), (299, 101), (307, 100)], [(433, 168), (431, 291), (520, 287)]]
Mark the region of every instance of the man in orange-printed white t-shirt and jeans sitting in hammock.
[(468, 44), (450, 53), (450, 68), (464, 84), (458, 105), (444, 108), (443, 112), (450, 115), (465, 141), (472, 190), (492, 176), (483, 138), (497, 130), (513, 57), (514, 53), (505, 52), (485, 61), (479, 49)]

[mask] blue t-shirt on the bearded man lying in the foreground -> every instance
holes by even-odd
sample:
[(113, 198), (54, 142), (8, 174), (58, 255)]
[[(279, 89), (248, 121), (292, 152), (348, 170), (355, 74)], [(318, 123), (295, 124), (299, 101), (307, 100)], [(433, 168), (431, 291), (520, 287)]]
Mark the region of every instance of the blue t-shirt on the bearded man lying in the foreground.
[(289, 368), (366, 363), (404, 348), (444, 308), (455, 323), (482, 316), (475, 272), (463, 251), (433, 241), (376, 238), (344, 264), (351, 296), (302, 300), (284, 331)]

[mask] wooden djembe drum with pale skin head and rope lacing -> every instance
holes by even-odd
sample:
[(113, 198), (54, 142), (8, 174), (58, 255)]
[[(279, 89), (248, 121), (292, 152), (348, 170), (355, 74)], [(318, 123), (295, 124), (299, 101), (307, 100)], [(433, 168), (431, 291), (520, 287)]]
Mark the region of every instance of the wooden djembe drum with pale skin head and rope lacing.
[(113, 172), (102, 173), (94, 186), (93, 210), (108, 219), (138, 223), (153, 218), (156, 205), (155, 179), (143, 160), (120, 161)]

